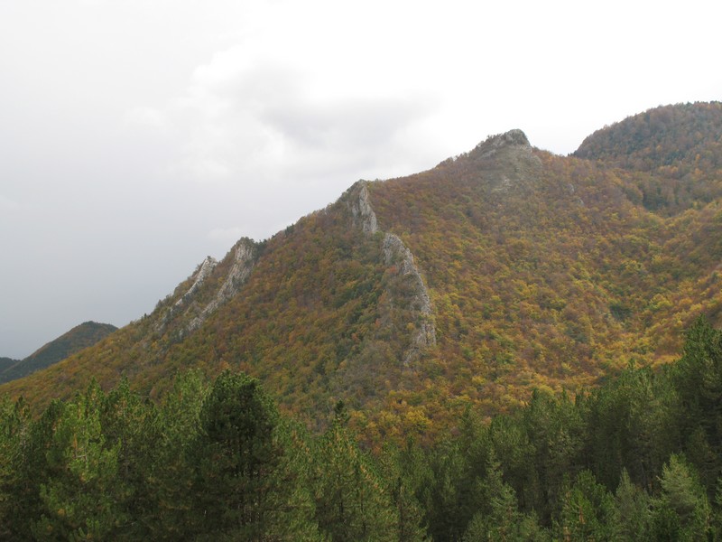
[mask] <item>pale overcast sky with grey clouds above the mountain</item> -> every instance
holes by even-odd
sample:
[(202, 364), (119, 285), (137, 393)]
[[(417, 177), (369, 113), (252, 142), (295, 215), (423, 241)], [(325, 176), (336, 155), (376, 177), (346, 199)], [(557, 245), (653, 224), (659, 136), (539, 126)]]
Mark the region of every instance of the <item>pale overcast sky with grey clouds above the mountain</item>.
[(0, 0), (0, 356), (125, 325), (358, 179), (722, 99), (711, 5)]

